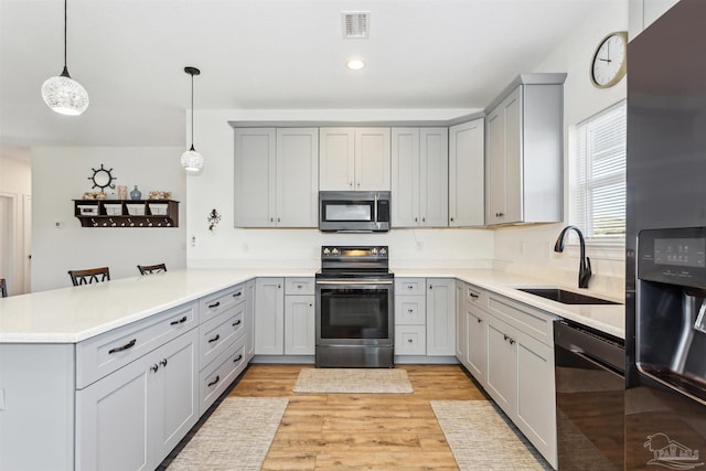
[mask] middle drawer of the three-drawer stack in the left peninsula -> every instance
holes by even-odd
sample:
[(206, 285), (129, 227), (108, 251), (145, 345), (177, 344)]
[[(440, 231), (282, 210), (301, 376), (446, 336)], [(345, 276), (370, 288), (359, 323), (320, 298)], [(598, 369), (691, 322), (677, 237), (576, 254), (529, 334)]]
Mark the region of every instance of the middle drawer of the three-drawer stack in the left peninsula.
[(232, 306), (218, 317), (199, 327), (201, 336), (200, 368), (203, 370), (216, 356), (245, 334), (245, 303)]

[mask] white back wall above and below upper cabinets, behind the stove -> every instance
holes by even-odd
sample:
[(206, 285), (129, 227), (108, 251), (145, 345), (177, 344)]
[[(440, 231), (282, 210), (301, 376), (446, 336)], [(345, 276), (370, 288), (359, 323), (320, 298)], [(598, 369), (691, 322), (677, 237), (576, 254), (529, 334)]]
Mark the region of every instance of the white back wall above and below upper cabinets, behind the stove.
[[(301, 267), (320, 266), (325, 244), (382, 244), (391, 247), (395, 267), (490, 267), (493, 234), (486, 229), (394, 229), (376, 235), (322, 234), (318, 229), (245, 229), (234, 227), (234, 131), (228, 121), (382, 121), (447, 120), (473, 113), (451, 110), (196, 110), (195, 148), (204, 157), (200, 175), (188, 178), (189, 266)], [(189, 117), (188, 117), (189, 120)], [(212, 210), (223, 216), (207, 229)], [(196, 245), (192, 246), (192, 237)], [(419, 244), (417, 244), (419, 243)]]

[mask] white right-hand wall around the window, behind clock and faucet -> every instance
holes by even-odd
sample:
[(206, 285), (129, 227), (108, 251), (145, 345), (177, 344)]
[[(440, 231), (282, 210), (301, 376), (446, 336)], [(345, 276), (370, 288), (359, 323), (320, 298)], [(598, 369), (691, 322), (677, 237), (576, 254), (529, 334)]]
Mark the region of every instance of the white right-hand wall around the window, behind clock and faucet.
[[(591, 85), (590, 61), (598, 43), (609, 33), (628, 30), (628, 2), (596, 2), (596, 15), (566, 39), (533, 72), (567, 72), (564, 85), (565, 181), (569, 181), (569, 160), (575, 153), (575, 126), (627, 97), (627, 78), (608, 89)], [(630, 64), (630, 63), (628, 63)], [(628, 65), (630, 67), (630, 65)], [(628, 68), (629, 69), (629, 68)], [(565, 221), (568, 221), (569, 185), (565, 185)], [(577, 247), (561, 254), (552, 250), (556, 237), (566, 225), (503, 227), (495, 231), (495, 267), (510, 271), (532, 272), (548, 282), (578, 280)], [(575, 239), (571, 238), (571, 242)], [(589, 247), (593, 278), (590, 289), (614, 295), (624, 292), (624, 250)]]

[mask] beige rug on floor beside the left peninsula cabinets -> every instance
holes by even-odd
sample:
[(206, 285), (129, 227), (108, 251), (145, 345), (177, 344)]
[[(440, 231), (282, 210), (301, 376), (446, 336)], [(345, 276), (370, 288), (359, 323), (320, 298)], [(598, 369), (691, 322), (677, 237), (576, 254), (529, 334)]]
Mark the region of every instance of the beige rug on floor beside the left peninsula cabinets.
[(286, 398), (226, 397), (169, 470), (259, 470), (288, 403)]

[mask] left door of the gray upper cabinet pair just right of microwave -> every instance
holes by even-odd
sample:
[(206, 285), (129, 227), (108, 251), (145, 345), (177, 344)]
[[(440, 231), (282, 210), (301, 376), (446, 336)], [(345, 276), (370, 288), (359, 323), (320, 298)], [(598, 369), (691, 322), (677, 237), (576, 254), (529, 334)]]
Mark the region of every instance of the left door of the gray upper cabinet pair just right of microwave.
[(392, 223), (419, 226), (419, 128), (392, 129)]

